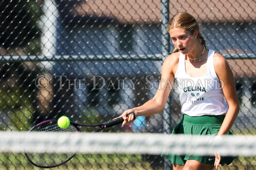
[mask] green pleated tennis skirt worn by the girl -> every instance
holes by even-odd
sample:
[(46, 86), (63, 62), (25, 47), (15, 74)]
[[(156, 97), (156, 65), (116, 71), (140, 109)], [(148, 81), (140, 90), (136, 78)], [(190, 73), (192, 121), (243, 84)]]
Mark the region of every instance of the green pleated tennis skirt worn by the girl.
[[(196, 134), (196, 135), (216, 135), (222, 125), (225, 115), (218, 116), (197, 116), (191, 117), (183, 115), (181, 122), (173, 129), (172, 134)], [(231, 132), (228, 134), (233, 135)], [(215, 156), (195, 156), (195, 155), (162, 155), (173, 164), (185, 165), (188, 159), (197, 160), (201, 163), (213, 165)], [(221, 157), (221, 165), (233, 162), (236, 157)]]

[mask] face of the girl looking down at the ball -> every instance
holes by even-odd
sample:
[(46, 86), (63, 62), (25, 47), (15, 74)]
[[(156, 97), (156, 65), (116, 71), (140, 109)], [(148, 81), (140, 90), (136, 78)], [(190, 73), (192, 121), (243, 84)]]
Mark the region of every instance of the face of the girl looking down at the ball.
[(169, 30), (173, 45), (181, 51), (182, 54), (188, 54), (196, 47), (195, 35), (182, 28), (173, 28)]

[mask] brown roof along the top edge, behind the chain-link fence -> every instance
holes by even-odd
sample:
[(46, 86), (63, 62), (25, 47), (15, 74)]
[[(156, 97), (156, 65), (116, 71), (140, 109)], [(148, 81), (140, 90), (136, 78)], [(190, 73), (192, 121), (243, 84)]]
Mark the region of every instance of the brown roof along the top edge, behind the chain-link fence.
[[(116, 21), (121, 24), (161, 22), (161, 0), (56, 0), (70, 22)], [(170, 0), (170, 16), (187, 11), (198, 22), (255, 22), (252, 0)]]

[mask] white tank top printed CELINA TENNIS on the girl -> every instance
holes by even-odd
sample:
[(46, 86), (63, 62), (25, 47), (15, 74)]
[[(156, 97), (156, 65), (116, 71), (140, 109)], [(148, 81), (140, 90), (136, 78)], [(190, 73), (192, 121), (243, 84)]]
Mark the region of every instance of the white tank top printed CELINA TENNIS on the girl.
[(180, 92), (181, 112), (188, 116), (225, 115), (228, 105), (218, 76), (213, 57), (215, 51), (209, 50), (207, 71), (201, 77), (190, 77), (185, 70), (185, 55), (180, 54), (175, 78)]

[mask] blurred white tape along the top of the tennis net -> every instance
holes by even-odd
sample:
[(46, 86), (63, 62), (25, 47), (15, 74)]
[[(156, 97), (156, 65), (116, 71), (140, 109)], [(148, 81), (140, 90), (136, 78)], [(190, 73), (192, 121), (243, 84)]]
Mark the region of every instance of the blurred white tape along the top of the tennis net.
[(256, 156), (256, 137), (185, 136), (146, 133), (11, 133), (0, 132), (1, 152), (81, 152)]

